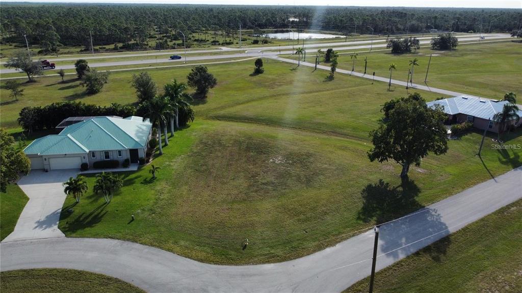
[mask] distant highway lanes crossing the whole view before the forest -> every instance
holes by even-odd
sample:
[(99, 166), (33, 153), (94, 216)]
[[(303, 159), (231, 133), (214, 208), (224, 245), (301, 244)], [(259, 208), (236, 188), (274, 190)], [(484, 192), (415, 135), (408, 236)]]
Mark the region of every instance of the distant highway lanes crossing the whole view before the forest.
[[(486, 41), (487, 40), (505, 39), (505, 38), (509, 38), (509, 37), (511, 37), (511, 36), (509, 36), (508, 34), (491, 34), (491, 35), (485, 36)], [(429, 39), (429, 38), (424, 38), (424, 39)], [(458, 36), (458, 39), (459, 39), (459, 41), (477, 41), (478, 37), (477, 36)], [(430, 40), (421, 40), (420, 43), (421, 44), (429, 44)], [(352, 42), (327, 43), (327, 44), (319, 43), (319, 44), (305, 45), (305, 47), (307, 49), (313, 49), (313, 50), (321, 48), (324, 51), (328, 47), (334, 46), (334, 45), (336, 46), (335, 49), (337, 51), (339, 51), (339, 50), (369, 49), (370, 47), (373, 47), (373, 48), (383, 48), (383, 47), (386, 47), (385, 43), (379, 43), (379, 44), (373, 44), (373, 45), (371, 45), (370, 43), (371, 43), (371, 41), (352, 41)], [(348, 45), (347, 46), (342, 46), (343, 44), (348, 44)], [(354, 45), (354, 44), (364, 44), (364, 45)], [(294, 53), (294, 51), (292, 49), (293, 47), (294, 46), (281, 46), (279, 48), (279, 47), (274, 47), (274, 46), (268, 46), (268, 47), (264, 47), (264, 48), (256, 48), (254, 50), (247, 50), (247, 51), (244, 51), (244, 49), (240, 49), (240, 48), (230, 48), (229, 51), (231, 52), (231, 54), (205, 55), (205, 56), (192, 56), (192, 57), (188, 57), (187, 56), (186, 60), (187, 61), (194, 61), (194, 60), (210, 60), (210, 59), (244, 58), (244, 57), (255, 57), (255, 56), (269, 57), (269, 56), (276, 56), (278, 54), (292, 54), (292, 53)], [(282, 51), (280, 51), (280, 53), (279, 53), (279, 51), (271, 51), (271, 50), (279, 50), (279, 49), (282, 50)], [(290, 49), (292, 49), (292, 50), (290, 50)], [(217, 51), (222, 52), (223, 50), (217, 50)], [(207, 50), (205, 52), (213, 52), (213, 51)], [(172, 54), (172, 53), (170, 53), (170, 52), (163, 52), (163, 53), (159, 53), (158, 52), (158, 53), (155, 53), (155, 55), (170, 55), (170, 54)], [(136, 56), (140, 56), (140, 55), (152, 56), (152, 54), (134, 54), (134, 55), (136, 55)], [(110, 57), (111, 58), (116, 58), (116, 57), (126, 57), (126, 56), (133, 56), (133, 55), (128, 55), (128, 54), (127, 55), (114, 55), (114, 56), (110, 56)], [(93, 58), (100, 58), (100, 57), (96, 56), (96, 57), (93, 57)], [(102, 58), (109, 58), (109, 57), (104, 56)], [(77, 59), (77, 58), (67, 58), (67, 59), (68, 60), (74, 60), (74, 59)], [(50, 59), (50, 60), (52, 60), (52, 59)], [(185, 61), (185, 56), (183, 57), (183, 59), (179, 59), (179, 60), (170, 60), (170, 59), (165, 57), (164, 59), (160, 59), (160, 60), (158, 60), (157, 58), (154, 58), (154, 59), (143, 59), (143, 60), (123, 60), (123, 61), (114, 61), (114, 62), (90, 63), (89, 66), (93, 67), (93, 68), (96, 68), (96, 67), (112, 67), (112, 66), (153, 64), (153, 63), (158, 63), (158, 62), (160, 62), (160, 63), (165, 63), (165, 62), (168, 62), (168, 63), (179, 63), (179, 62), (184, 62), (184, 61)], [(58, 64), (54, 70), (58, 70), (58, 69), (64, 69), (65, 70), (65, 69), (73, 69), (73, 68), (74, 68), (74, 65), (72, 65), (72, 64), (69, 64), (69, 65), (60, 65), (60, 64)], [(47, 69), (46, 72), (52, 72), (54, 70), (53, 69)], [(10, 69), (3, 68), (3, 69), (0, 69), (0, 74), (7, 74), (7, 73), (14, 73), (14, 72), (19, 72), (19, 71), (17, 71), (14, 68), (10, 68)]]

